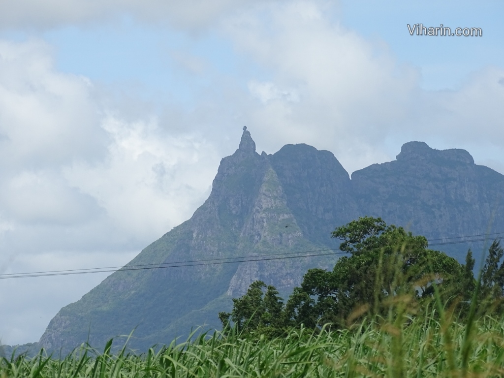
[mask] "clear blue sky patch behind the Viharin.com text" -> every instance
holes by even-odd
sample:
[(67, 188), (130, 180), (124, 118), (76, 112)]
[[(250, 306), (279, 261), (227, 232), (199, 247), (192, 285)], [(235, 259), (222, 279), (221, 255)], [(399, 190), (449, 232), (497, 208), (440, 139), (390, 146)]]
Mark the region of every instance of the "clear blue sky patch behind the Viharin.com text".
[[(421, 68), (422, 88), (456, 89), (467, 75), (487, 66), (504, 65), (501, 47), (504, 4), (483, 2), (342, 2), (342, 22), (367, 38), (384, 40), (398, 59)], [(443, 24), (451, 28), (480, 27), (483, 38), (419, 38), (407, 24)], [(405, 32), (406, 31), (406, 32)]]

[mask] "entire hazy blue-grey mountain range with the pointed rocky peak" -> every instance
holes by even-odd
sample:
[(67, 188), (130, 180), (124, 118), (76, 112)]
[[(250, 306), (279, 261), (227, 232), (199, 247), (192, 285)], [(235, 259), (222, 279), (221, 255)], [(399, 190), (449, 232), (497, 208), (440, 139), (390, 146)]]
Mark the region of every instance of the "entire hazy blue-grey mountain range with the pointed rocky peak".
[[(221, 160), (212, 192), (193, 217), (62, 308), (39, 346), (68, 352), (89, 340), (100, 347), (135, 330), (129, 345), (145, 351), (187, 335), (196, 325), (219, 327), (218, 312), (229, 310), (231, 298), (254, 280), (275, 285), (286, 296), (308, 268), (332, 268), (337, 258), (213, 260), (211, 265), (128, 270), (134, 266), (260, 255), (274, 259), (337, 248), (331, 231), (364, 215), (435, 239), (503, 231), (503, 193), (504, 176), (475, 165), (464, 150), (406, 143), (396, 161), (373, 164), (350, 179), (331, 152), (305, 144), (259, 155), (244, 128), (239, 148)], [(462, 261), (467, 247), (448, 249)]]

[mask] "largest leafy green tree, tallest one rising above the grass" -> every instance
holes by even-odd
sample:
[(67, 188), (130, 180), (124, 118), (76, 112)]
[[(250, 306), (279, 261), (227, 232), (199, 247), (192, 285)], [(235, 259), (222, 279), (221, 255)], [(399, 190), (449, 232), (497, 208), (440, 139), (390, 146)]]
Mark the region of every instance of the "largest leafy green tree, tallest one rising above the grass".
[(348, 317), (385, 313), (392, 297), (429, 298), (435, 281), (444, 298), (453, 295), (461, 266), (453, 258), (427, 248), (427, 239), (381, 218), (364, 217), (338, 227), (342, 257), (332, 272), (310, 269), (301, 287), (287, 302), (287, 318), (306, 327), (332, 323), (343, 326)]

